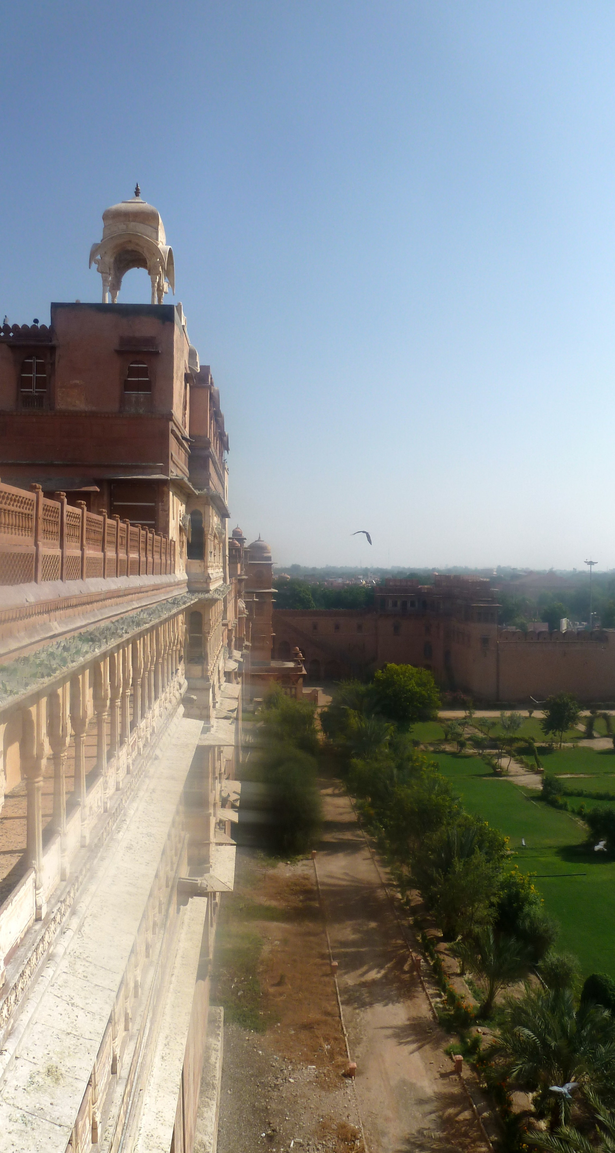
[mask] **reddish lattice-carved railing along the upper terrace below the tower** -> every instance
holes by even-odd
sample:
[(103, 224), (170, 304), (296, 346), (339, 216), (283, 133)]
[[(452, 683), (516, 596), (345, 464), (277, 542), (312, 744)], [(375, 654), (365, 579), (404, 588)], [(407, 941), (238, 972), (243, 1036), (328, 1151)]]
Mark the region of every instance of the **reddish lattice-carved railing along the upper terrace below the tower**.
[(64, 492), (0, 484), (0, 585), (174, 573), (175, 556), (164, 534), (69, 505)]

